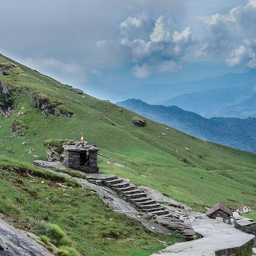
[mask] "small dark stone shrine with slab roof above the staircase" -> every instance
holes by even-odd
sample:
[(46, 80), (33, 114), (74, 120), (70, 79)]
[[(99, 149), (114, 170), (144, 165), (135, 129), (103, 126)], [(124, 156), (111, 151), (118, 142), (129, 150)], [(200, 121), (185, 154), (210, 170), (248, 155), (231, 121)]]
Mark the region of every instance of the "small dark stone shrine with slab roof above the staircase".
[(63, 145), (63, 164), (67, 168), (78, 169), (89, 173), (98, 173), (98, 148), (79, 141), (71, 145)]

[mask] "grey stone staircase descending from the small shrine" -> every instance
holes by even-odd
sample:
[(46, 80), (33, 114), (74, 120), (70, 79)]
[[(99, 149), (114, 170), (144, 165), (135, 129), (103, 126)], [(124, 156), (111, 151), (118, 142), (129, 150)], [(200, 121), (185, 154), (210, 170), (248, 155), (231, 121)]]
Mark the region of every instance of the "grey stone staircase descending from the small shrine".
[(161, 217), (173, 217), (165, 207), (148, 197), (143, 190), (122, 178), (115, 175), (90, 174), (86, 176), (86, 179), (91, 183), (111, 188), (145, 213)]

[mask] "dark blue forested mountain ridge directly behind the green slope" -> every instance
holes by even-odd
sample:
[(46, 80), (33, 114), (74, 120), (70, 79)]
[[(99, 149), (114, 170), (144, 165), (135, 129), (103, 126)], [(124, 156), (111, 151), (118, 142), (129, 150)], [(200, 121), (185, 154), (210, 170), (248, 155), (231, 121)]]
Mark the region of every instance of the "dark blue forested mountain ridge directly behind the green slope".
[(174, 105), (150, 105), (139, 99), (127, 99), (116, 104), (195, 137), (256, 152), (255, 117), (208, 119)]

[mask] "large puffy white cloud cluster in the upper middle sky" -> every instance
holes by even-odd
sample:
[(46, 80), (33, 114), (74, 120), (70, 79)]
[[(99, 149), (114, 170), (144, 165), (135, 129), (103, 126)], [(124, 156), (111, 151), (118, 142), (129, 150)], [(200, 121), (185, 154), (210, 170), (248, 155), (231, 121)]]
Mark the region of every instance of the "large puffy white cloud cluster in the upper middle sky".
[(190, 27), (178, 31), (173, 19), (165, 15), (155, 20), (146, 15), (128, 16), (119, 29), (118, 39), (98, 41), (97, 45), (120, 47), (126, 61), (135, 63), (131, 73), (137, 78), (179, 70), (184, 52), (197, 42)]

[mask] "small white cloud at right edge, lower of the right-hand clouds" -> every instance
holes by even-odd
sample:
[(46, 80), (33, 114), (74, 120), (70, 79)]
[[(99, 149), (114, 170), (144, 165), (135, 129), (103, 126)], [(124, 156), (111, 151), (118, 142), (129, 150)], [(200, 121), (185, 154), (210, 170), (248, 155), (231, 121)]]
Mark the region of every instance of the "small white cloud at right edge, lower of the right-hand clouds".
[(245, 38), (226, 58), (230, 66), (245, 65), (256, 68), (256, 38)]

